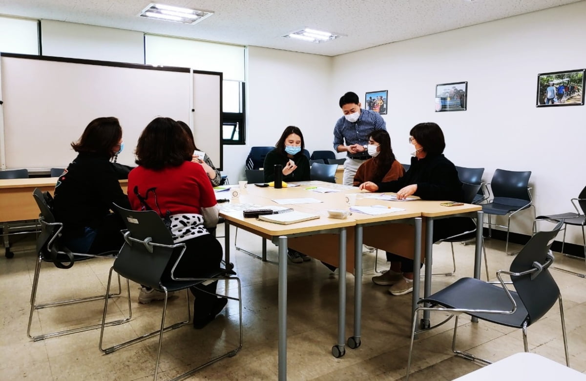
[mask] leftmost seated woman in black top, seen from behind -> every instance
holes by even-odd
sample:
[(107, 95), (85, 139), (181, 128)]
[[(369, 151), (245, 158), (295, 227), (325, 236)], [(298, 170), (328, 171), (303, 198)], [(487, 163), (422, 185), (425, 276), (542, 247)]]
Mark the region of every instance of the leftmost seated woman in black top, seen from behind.
[(118, 119), (94, 119), (71, 147), (78, 155), (59, 177), (53, 204), (55, 219), (63, 223), (62, 242), (76, 253), (118, 251), (124, 223), (110, 210), (114, 203), (130, 207), (111, 162), (124, 148)]

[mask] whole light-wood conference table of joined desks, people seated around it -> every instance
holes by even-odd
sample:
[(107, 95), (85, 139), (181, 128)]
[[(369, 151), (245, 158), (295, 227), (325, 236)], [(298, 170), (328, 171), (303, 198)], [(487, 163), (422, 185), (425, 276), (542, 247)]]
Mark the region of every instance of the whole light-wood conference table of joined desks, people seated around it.
[[(389, 247), (388, 234), (392, 229), (405, 228), (405, 224), (413, 226), (411, 235), (407, 238), (413, 246), (415, 263), (421, 262), (421, 248), (425, 250), (425, 283), (424, 296), (431, 294), (431, 263), (432, 263), (432, 234), (433, 222), (438, 218), (465, 215), (475, 216), (482, 221), (481, 207), (465, 204), (456, 207), (442, 207), (441, 201), (390, 201), (393, 207), (401, 211), (388, 214), (369, 215), (353, 212), (346, 219), (329, 218), (327, 210), (348, 210), (346, 195), (357, 195), (357, 205), (380, 205), (389, 201), (369, 198), (370, 193), (361, 192), (356, 187), (340, 184), (323, 183), (321, 181), (305, 181), (298, 183), (298, 187), (282, 189), (260, 188), (248, 184), (246, 190), (241, 191), (238, 198), (231, 200), (229, 205), (220, 207), (220, 216), (226, 220), (226, 236), (224, 250), (228, 267), (230, 264), (230, 225), (244, 229), (265, 239), (270, 239), (278, 245), (279, 257), (279, 287), (278, 287), (278, 378), (287, 379), (287, 248), (298, 250), (323, 262), (339, 267), (339, 274), (346, 271), (355, 274), (355, 315), (354, 332), (347, 342), (350, 348), (360, 346), (360, 323), (362, 310), (362, 243), (385, 249)], [(319, 193), (316, 189), (330, 189), (332, 193)], [(319, 219), (297, 222), (291, 225), (280, 225), (272, 222), (259, 221), (255, 218), (244, 218), (242, 210), (245, 208), (272, 207), (278, 205), (273, 200), (315, 198), (320, 202), (308, 204), (282, 205), (292, 207), (296, 211), (309, 212), (319, 215)], [(423, 226), (425, 219), (425, 226)], [(392, 224), (401, 224), (393, 226)], [(382, 229), (382, 230), (381, 230)], [(407, 229), (408, 226), (407, 226)], [(423, 231), (425, 230), (425, 240)], [(474, 276), (480, 276), (482, 252), (482, 229), (477, 229), (477, 243), (475, 255)], [(363, 234), (366, 239), (363, 240)], [(478, 237), (480, 236), (480, 237)], [(377, 238), (378, 237), (378, 238)], [(391, 245), (392, 246), (392, 245)], [(347, 255), (349, 253), (349, 255)], [(353, 258), (352, 258), (353, 257)], [(419, 279), (420, 268), (414, 266), (414, 279)], [(412, 311), (417, 307), (420, 289), (419, 283), (414, 282)], [(340, 357), (345, 354), (345, 313), (346, 313), (346, 283), (345, 276), (338, 277), (338, 342), (332, 347), (332, 354)], [(429, 324), (429, 315), (424, 315), (421, 326)]]

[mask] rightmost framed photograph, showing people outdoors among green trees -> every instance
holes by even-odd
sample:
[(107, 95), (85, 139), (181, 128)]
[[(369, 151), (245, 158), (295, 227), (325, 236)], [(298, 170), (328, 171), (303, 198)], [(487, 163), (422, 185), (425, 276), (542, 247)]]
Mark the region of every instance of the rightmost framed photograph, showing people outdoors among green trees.
[(584, 71), (555, 71), (537, 75), (537, 107), (584, 105)]

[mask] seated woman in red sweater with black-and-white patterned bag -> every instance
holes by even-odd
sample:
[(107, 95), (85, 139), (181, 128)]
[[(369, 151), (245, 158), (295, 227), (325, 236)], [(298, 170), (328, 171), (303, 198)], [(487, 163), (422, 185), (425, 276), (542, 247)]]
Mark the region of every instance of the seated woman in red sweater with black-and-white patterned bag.
[[(138, 167), (128, 175), (132, 209), (154, 210), (170, 220), (173, 242), (187, 246), (176, 267), (176, 277), (203, 276), (219, 269), (222, 260), (222, 246), (207, 231), (218, 221), (216, 196), (203, 167), (191, 161), (192, 153), (192, 143), (179, 123), (155, 118), (138, 138)], [(175, 254), (176, 260), (179, 251)], [(175, 260), (169, 261), (166, 274), (171, 274)], [(213, 295), (216, 284), (191, 289), (195, 296), (193, 327), (197, 329), (214, 320), (226, 306), (226, 298)], [(161, 298), (159, 294), (142, 287), (139, 301), (141, 296)]]

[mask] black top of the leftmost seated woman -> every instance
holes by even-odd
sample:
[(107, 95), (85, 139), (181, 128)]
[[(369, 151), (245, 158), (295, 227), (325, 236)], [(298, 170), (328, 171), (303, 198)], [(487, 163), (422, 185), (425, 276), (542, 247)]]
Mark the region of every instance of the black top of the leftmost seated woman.
[(69, 237), (83, 235), (83, 228), (100, 226), (110, 214), (112, 204), (130, 209), (122, 192), (119, 166), (110, 158), (96, 153), (80, 153), (69, 164), (55, 186), (53, 212), (63, 222), (63, 233)]

